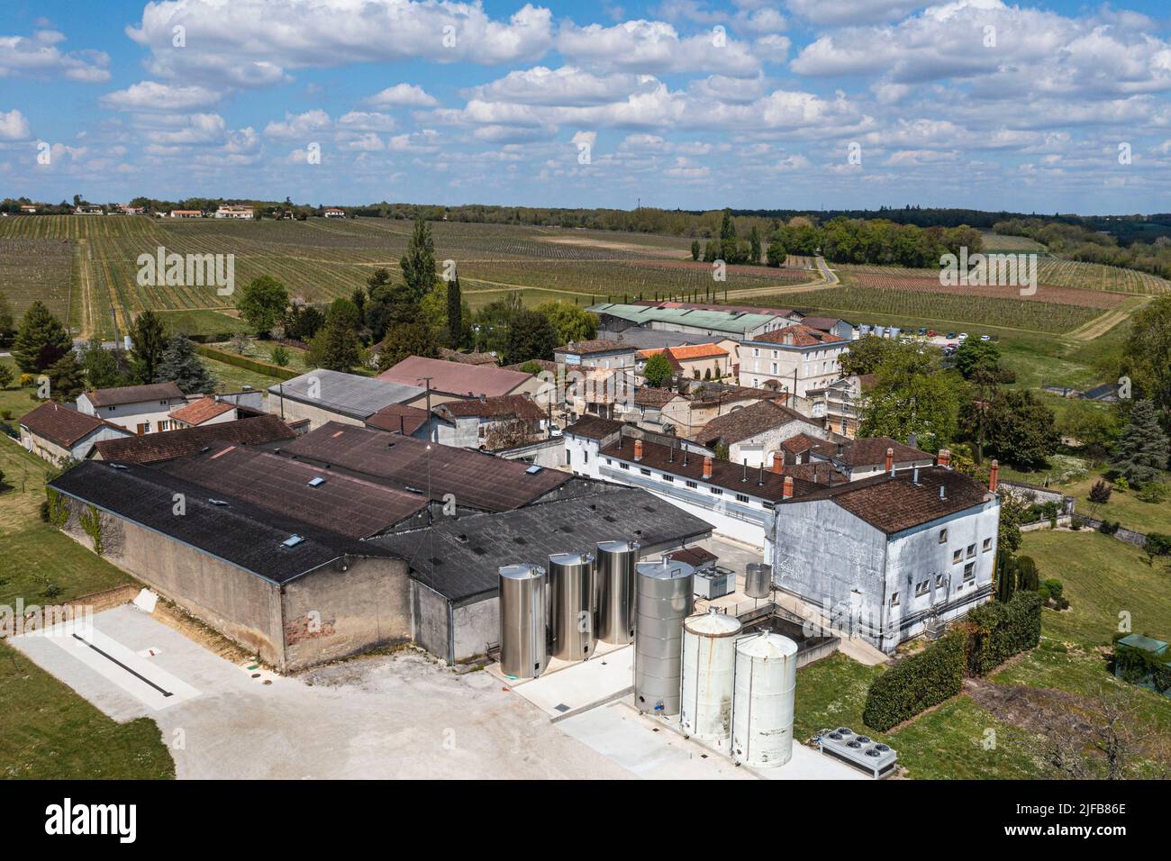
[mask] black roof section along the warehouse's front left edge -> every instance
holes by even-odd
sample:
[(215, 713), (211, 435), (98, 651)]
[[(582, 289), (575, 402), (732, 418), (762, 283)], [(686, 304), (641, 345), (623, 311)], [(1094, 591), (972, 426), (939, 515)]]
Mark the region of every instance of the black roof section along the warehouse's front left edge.
[[(141, 464), (117, 466), (87, 460), (49, 485), (278, 583), (347, 555), (393, 555), (385, 548), (281, 517), (240, 499), (210, 497), (197, 484)], [(186, 512), (182, 515), (172, 513), (176, 493), (185, 497)], [(210, 498), (227, 505), (215, 505)], [(294, 547), (282, 546), (294, 534), (304, 540)]]

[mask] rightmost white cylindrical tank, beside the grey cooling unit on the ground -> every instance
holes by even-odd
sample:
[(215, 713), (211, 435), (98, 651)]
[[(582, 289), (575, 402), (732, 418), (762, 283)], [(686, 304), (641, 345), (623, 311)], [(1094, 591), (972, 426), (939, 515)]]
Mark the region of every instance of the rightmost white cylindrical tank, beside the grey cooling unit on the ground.
[(797, 644), (780, 634), (741, 637), (735, 647), (732, 758), (758, 767), (793, 757)]

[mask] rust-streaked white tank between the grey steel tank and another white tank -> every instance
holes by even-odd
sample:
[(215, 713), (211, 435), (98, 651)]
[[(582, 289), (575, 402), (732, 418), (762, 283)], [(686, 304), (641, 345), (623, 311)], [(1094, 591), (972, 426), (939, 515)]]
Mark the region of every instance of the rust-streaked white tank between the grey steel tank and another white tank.
[(679, 720), (685, 733), (723, 750), (732, 740), (732, 679), (740, 627), (735, 616), (714, 609), (683, 623)]

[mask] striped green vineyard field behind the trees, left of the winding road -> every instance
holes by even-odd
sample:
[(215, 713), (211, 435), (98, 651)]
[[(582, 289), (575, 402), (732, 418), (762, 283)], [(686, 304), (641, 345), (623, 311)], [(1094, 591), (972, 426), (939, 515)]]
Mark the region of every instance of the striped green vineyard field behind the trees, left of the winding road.
[[(146, 308), (167, 312), (230, 307), (214, 287), (141, 287), (138, 257), (159, 247), (179, 254), (232, 254), (235, 283), (273, 275), (294, 296), (328, 301), (349, 295), (377, 267), (397, 273), (411, 223), (389, 219), (234, 221), (138, 216), (33, 216), (0, 220), (0, 291), (16, 312), (40, 296), (67, 313), (75, 334), (124, 332)], [(708, 264), (691, 260), (691, 240), (604, 231), (436, 221), (439, 261), (452, 260), (473, 307), (520, 289), (526, 302), (588, 303), (622, 294), (644, 296), (809, 281), (807, 258), (790, 267), (728, 267), (714, 282)], [(11, 251), (9, 251), (11, 250)], [(70, 295), (73, 296), (70, 302)], [(71, 310), (70, 310), (71, 305)], [(182, 315), (177, 315), (182, 316)], [(208, 324), (213, 317), (187, 317)]]

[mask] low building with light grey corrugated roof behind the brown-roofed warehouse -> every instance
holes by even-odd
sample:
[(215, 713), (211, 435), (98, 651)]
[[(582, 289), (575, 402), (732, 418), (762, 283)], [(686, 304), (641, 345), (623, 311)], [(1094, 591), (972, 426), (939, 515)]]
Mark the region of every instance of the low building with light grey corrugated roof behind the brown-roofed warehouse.
[(272, 412), (286, 422), (308, 419), (310, 428), (320, 428), (327, 422), (362, 426), (384, 406), (418, 406), (425, 402), (426, 390), (418, 385), (323, 368), (268, 387), (268, 409)]

